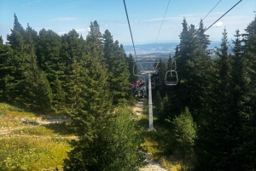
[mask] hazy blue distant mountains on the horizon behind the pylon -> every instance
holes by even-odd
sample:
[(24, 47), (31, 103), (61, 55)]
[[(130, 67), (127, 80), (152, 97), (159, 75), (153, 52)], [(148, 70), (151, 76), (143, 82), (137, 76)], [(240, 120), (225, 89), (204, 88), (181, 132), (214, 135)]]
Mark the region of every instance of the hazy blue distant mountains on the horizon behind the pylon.
[[(167, 57), (169, 54), (174, 54), (175, 48), (179, 43), (148, 43), (148, 44), (137, 44), (135, 45), (137, 57), (144, 56), (159, 56)], [(212, 41), (208, 46), (208, 49), (213, 49), (215, 47), (220, 48), (221, 42)], [(125, 45), (125, 53), (134, 55), (134, 50), (132, 45)], [(229, 48), (229, 53), (232, 53), (231, 48)]]

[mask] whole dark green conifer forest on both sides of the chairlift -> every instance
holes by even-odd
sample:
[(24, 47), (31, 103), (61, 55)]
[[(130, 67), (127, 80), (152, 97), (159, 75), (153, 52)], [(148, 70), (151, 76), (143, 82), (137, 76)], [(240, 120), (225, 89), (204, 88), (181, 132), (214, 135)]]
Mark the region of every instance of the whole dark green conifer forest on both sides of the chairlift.
[[(95, 20), (87, 37), (75, 30), (60, 36), (14, 19), (7, 43), (0, 37), (0, 102), (35, 116), (70, 117), (61, 129), (76, 138), (67, 140), (67, 157), (52, 170), (139, 170), (148, 140), (161, 151), (152, 160), (166, 170), (256, 170), (256, 16), (230, 42), (224, 29), (211, 51), (203, 21), (198, 28), (181, 21), (175, 54), (155, 59), (155, 132), (148, 132), (148, 116), (138, 120), (131, 111), (139, 100), (130, 86), (139, 79), (135, 59), (110, 31)], [(174, 66), (177, 85), (167, 86), (166, 71)], [(4, 142), (0, 137), (0, 150)], [(0, 170), (43, 170), (9, 158), (0, 155)]]

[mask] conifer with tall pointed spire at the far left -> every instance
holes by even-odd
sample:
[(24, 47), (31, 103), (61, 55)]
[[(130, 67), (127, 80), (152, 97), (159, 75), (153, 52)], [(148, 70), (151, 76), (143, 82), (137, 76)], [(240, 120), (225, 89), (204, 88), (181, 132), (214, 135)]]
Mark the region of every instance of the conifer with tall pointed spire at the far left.
[(26, 64), (29, 61), (29, 48), (25, 41), (26, 32), (20, 25), (17, 16), (15, 15), (14, 28), (11, 33), (7, 35), (9, 44), (9, 55), (6, 62), (5, 80), (5, 97), (12, 103), (21, 94), (22, 89), (18, 85), (25, 77), (23, 75), (26, 71)]

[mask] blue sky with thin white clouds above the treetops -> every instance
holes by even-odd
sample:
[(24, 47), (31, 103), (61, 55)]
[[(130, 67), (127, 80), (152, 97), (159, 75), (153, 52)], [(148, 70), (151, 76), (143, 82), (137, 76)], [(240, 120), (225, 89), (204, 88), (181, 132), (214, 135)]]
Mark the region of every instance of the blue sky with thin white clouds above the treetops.
[[(204, 20), (211, 26), (239, 0), (222, 0)], [(135, 44), (154, 43), (166, 12), (166, 19), (157, 43), (177, 42), (183, 17), (195, 26), (219, 0), (125, 0)], [(212, 41), (220, 41), (224, 26), (231, 39), (236, 29), (244, 32), (256, 13), (256, 0), (243, 0), (212, 26), (206, 33)], [(72, 29), (86, 37), (90, 22), (97, 20), (102, 33), (108, 29), (114, 40), (131, 44), (123, 0), (0, 0), (0, 35), (6, 35), (14, 25), (14, 14), (20, 24), (27, 23), (36, 31), (50, 29), (64, 34)]]

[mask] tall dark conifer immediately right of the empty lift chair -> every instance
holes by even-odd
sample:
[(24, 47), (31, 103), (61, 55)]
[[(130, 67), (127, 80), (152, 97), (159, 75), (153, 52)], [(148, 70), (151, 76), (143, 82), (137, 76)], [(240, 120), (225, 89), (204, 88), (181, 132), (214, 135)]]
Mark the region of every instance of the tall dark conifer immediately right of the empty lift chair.
[[(183, 31), (179, 37), (180, 43), (175, 54), (179, 83), (172, 88), (173, 94), (170, 95), (172, 104), (170, 107), (172, 112), (178, 115), (180, 111), (188, 106), (197, 123), (200, 122), (200, 110), (204, 105), (204, 88), (207, 87), (207, 70), (211, 61), (205, 49), (202, 48), (203, 44), (207, 46), (208, 37), (199, 34), (195, 30), (195, 26), (188, 26), (185, 19), (183, 20)], [(205, 43), (201, 43), (201, 39)]]

